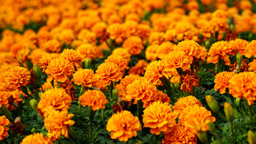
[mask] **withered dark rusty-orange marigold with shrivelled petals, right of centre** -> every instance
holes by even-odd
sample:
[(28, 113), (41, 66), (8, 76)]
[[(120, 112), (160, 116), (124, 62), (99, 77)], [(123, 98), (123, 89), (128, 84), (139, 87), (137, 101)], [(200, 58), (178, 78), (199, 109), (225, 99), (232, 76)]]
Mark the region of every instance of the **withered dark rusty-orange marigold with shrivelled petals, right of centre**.
[(180, 86), (180, 90), (189, 91), (191, 92), (192, 86), (198, 86), (199, 85), (199, 79), (200, 77), (197, 76), (197, 74), (193, 73), (190, 70), (184, 71), (184, 74), (181, 75), (181, 81), (182, 84)]

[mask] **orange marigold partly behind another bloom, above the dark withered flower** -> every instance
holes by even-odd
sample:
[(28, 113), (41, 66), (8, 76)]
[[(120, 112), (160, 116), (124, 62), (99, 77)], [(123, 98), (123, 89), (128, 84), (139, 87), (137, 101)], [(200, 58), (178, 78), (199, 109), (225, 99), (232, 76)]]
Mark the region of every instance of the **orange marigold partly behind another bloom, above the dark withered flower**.
[(180, 50), (186, 53), (187, 56), (193, 61), (193, 59), (199, 59), (201, 56), (200, 45), (193, 40), (184, 40), (174, 47), (174, 50)]

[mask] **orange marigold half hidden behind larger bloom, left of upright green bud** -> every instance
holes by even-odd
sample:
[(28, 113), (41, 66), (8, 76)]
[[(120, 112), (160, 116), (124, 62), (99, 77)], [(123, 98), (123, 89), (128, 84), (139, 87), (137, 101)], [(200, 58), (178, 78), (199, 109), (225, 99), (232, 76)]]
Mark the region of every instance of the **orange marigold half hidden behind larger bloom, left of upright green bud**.
[(59, 57), (69, 60), (77, 69), (82, 67), (81, 55), (78, 51), (73, 49), (64, 49)]

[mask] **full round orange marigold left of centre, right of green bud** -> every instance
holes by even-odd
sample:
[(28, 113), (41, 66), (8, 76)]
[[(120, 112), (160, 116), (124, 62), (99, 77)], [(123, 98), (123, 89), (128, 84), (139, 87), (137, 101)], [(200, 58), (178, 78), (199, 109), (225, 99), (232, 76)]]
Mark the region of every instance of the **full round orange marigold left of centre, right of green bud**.
[(111, 81), (118, 82), (121, 79), (122, 73), (120, 72), (118, 65), (112, 62), (104, 62), (99, 65), (98, 70), (96, 70), (97, 77), (103, 85), (109, 85)]

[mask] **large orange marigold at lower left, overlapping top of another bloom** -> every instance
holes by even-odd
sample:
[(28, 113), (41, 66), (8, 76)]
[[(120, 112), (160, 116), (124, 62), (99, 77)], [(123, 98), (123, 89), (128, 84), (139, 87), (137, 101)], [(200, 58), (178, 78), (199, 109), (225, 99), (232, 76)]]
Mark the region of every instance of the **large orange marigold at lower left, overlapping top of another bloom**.
[(40, 109), (44, 117), (46, 117), (52, 110), (69, 109), (71, 101), (71, 97), (67, 94), (65, 89), (55, 87), (41, 94), (38, 109)]

